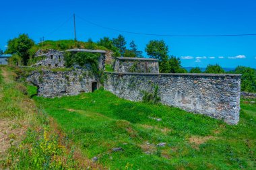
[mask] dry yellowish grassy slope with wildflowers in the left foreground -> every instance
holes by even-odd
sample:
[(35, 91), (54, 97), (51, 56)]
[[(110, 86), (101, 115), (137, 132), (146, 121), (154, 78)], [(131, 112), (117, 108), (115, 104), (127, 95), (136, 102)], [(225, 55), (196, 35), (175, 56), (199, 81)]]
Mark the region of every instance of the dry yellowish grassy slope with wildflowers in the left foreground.
[(0, 169), (102, 169), (73, 147), (14, 78), (13, 69), (0, 65)]

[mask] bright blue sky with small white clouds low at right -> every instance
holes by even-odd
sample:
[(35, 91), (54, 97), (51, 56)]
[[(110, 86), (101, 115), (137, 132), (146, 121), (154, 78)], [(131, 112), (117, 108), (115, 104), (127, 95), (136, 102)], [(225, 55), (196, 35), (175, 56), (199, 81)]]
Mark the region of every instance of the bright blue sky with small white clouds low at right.
[(256, 36), (142, 36), (106, 30), (80, 19), (148, 34), (256, 34), (255, 0), (1, 1), (0, 48), (5, 50), (7, 40), (20, 33), (27, 33), (35, 42), (42, 36), (45, 40), (72, 39), (73, 21), (69, 17), (73, 13), (77, 15), (78, 40), (97, 41), (122, 34), (128, 44), (134, 40), (142, 51), (150, 40), (164, 40), (169, 54), (180, 57), (183, 67), (218, 63), (222, 67), (256, 68)]

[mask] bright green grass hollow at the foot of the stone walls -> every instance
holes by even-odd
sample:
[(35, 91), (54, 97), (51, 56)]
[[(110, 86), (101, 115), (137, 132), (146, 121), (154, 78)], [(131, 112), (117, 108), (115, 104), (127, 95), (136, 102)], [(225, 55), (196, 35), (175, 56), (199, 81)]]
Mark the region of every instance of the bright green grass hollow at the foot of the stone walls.
[[(34, 99), (89, 158), (98, 157), (111, 169), (256, 168), (255, 103), (243, 101), (241, 121), (229, 126), (178, 108), (119, 99), (103, 90)], [(166, 146), (156, 146), (160, 142)], [(124, 151), (112, 152), (115, 147)]]

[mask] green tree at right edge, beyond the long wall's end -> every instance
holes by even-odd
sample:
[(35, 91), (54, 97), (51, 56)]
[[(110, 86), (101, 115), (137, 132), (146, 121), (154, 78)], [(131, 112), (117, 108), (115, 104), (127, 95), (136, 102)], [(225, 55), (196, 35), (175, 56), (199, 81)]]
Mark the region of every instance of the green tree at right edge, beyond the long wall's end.
[(238, 66), (234, 70), (236, 74), (241, 76), (241, 91), (256, 92), (256, 70), (250, 67)]

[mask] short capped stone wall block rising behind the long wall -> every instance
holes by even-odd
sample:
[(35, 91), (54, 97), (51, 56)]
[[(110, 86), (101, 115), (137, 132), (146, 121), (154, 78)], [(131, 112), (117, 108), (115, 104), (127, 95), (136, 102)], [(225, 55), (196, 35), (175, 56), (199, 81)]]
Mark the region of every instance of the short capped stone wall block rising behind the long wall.
[(117, 57), (114, 71), (119, 73), (159, 73), (158, 60), (152, 58)]

